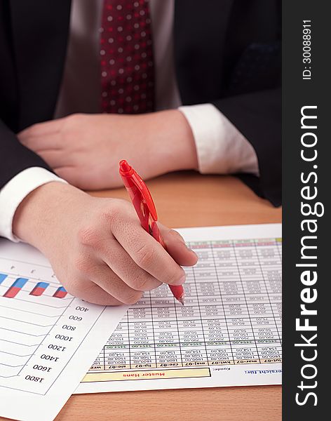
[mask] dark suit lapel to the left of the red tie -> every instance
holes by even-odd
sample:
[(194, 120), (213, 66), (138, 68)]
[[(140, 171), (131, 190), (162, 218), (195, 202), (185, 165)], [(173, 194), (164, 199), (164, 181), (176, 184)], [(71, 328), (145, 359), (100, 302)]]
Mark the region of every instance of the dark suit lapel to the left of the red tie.
[(70, 0), (11, 0), (19, 128), (51, 119), (65, 61)]

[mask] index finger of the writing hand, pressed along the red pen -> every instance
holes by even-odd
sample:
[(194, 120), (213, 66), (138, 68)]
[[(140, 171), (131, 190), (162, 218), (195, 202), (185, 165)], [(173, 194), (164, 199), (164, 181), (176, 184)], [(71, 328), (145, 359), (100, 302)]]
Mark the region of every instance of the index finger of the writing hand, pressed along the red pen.
[(185, 272), (151, 235), (142, 229), (134, 212), (126, 206), (113, 210), (112, 232), (133, 261), (163, 283), (181, 285)]

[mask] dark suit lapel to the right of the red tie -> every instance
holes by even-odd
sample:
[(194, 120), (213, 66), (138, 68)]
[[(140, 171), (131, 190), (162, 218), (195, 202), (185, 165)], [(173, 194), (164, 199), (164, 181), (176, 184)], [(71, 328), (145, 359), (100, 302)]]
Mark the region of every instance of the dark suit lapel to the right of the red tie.
[(175, 0), (175, 67), (184, 105), (215, 98), (233, 0)]

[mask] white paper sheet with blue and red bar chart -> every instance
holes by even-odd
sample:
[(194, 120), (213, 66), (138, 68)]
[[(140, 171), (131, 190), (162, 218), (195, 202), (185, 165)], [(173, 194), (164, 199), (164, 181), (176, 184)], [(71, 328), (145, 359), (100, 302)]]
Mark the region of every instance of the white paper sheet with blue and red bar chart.
[(53, 420), (126, 308), (72, 297), (39, 251), (0, 240), (0, 416)]

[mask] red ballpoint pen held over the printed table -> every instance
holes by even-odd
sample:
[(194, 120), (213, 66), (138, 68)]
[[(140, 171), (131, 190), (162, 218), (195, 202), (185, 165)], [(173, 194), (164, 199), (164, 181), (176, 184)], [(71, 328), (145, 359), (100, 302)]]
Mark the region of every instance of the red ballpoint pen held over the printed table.
[[(137, 175), (132, 166), (124, 159), (119, 163), (119, 173), (133, 206), (135, 207), (142, 227), (166, 250), (167, 248), (156, 223), (158, 215), (156, 213), (154, 201), (151, 198), (147, 185), (145, 185), (142, 178)], [(182, 285), (169, 285), (169, 288), (174, 297), (184, 305), (184, 288)]]

